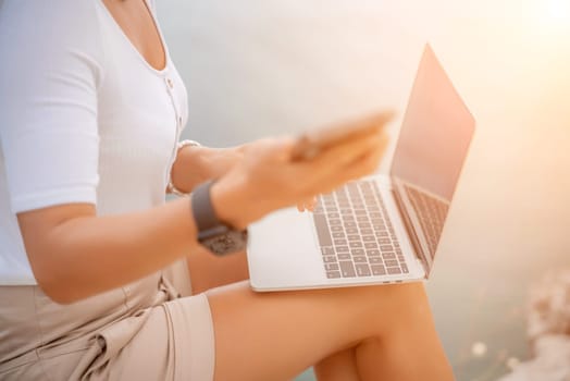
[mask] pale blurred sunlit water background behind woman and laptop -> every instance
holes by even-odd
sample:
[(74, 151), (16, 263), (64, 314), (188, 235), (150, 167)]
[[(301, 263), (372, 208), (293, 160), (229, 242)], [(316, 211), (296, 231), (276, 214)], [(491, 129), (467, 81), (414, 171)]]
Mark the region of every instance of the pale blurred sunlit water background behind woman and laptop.
[(189, 91), (185, 137), (218, 147), (401, 116), (430, 41), (478, 121), (428, 283), (436, 325), (458, 380), (530, 358), (529, 286), (570, 267), (570, 0), (163, 0), (158, 14)]

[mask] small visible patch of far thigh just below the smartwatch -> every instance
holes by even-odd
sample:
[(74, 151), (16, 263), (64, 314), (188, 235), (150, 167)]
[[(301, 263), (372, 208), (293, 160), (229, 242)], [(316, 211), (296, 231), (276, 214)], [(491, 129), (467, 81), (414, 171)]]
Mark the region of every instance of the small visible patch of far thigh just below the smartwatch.
[(186, 261), (193, 295), (249, 279), (246, 251), (218, 257), (207, 250), (199, 250), (189, 255)]

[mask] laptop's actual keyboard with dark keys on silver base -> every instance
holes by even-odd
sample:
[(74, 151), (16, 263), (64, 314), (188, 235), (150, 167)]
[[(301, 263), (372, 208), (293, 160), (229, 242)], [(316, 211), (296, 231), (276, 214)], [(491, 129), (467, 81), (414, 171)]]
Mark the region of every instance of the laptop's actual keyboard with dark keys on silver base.
[(409, 272), (373, 181), (348, 183), (320, 196), (313, 219), (327, 278)]

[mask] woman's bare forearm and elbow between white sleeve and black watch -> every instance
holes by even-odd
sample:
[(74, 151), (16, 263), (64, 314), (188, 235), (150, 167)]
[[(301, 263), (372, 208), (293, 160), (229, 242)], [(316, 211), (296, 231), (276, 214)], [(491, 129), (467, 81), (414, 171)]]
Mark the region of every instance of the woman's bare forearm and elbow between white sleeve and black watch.
[(135, 281), (198, 245), (188, 199), (137, 213), (95, 214), (88, 204), (18, 214), (34, 275), (58, 303)]

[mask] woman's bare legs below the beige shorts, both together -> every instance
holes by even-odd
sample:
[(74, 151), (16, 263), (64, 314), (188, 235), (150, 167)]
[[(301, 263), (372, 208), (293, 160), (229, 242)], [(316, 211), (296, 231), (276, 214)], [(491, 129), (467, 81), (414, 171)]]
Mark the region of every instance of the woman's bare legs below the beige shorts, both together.
[[(203, 251), (188, 268), (195, 294), (248, 279), (245, 253)], [(313, 365), (323, 381), (453, 379), (421, 284), (258, 294), (243, 282), (209, 299), (218, 380), (286, 380)]]

